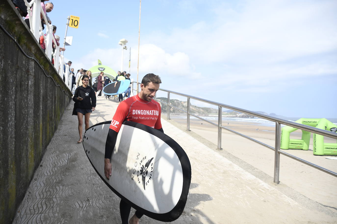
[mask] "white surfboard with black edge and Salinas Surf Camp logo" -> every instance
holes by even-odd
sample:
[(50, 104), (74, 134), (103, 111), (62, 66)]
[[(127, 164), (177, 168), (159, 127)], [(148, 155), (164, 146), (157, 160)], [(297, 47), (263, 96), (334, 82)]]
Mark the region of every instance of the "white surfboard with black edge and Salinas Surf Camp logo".
[(112, 153), (112, 176), (104, 176), (105, 142), (111, 121), (86, 130), (83, 147), (97, 174), (119, 197), (146, 216), (174, 221), (184, 210), (191, 165), (185, 151), (164, 133), (124, 121)]

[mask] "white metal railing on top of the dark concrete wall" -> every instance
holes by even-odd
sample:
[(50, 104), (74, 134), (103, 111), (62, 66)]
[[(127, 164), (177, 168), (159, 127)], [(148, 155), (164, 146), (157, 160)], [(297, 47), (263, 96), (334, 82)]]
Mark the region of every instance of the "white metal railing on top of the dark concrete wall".
[[(37, 40), (40, 41), (40, 37), (43, 36), (44, 45), (45, 45), (45, 53), (48, 59), (52, 62), (54, 59), (54, 67), (58, 74), (63, 79), (63, 75), (65, 77), (65, 84), (66, 86), (72, 90), (72, 75), (69, 72), (69, 65), (65, 63), (64, 56), (60, 54), (60, 46), (57, 45), (55, 37), (53, 35), (53, 26), (49, 24), (46, 15), (44, 14), (43, 8), (41, 6), (41, 0), (32, 0), (28, 2), (24, 0), (27, 6), (27, 12), (29, 14), (29, 24), (30, 24), (30, 31), (32, 32), (33, 36)], [(41, 17), (45, 23), (46, 27), (46, 34), (43, 34), (42, 25), (41, 25)], [(55, 46), (55, 50), (53, 51), (53, 43)], [(65, 65), (65, 71), (64, 71)]]

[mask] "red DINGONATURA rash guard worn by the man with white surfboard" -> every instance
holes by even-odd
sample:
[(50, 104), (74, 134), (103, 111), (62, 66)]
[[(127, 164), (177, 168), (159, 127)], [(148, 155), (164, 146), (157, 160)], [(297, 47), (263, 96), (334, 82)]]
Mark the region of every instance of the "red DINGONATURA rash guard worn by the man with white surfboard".
[(119, 132), (123, 121), (133, 121), (161, 129), (160, 104), (154, 100), (150, 102), (141, 99), (138, 94), (123, 100), (117, 107), (116, 113), (111, 121), (110, 129)]

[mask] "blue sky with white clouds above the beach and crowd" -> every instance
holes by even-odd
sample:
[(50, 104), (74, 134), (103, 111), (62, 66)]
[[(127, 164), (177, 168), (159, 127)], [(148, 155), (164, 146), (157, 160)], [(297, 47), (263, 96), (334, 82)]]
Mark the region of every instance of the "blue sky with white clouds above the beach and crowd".
[[(53, 1), (48, 15), (61, 45), (67, 16), (80, 17), (78, 29), (68, 28), (65, 60), (75, 71), (97, 59), (120, 71), (118, 42), (126, 39), (123, 70), (131, 48), (136, 81), (140, 1), (91, 2)], [(336, 0), (143, 0), (139, 82), (154, 73), (166, 90), (285, 117), (336, 118), (336, 11)]]

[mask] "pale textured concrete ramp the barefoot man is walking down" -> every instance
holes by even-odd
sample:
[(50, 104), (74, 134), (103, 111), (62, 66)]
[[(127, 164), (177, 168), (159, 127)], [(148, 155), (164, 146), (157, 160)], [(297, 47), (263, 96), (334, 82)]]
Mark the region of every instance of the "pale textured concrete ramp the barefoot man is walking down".
[[(114, 100), (98, 98), (90, 125), (111, 120), (117, 106)], [(82, 144), (76, 143), (78, 122), (71, 112), (72, 104), (62, 117), (13, 223), (120, 223), (120, 199), (95, 173)], [(322, 206), (309, 208), (297, 203), (299, 193), (292, 197), (294, 200), (164, 119), (162, 125), (165, 134), (185, 149), (192, 166), (187, 204), (173, 223), (336, 222), (336, 213)], [(144, 216), (140, 223), (162, 222)]]

